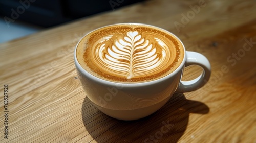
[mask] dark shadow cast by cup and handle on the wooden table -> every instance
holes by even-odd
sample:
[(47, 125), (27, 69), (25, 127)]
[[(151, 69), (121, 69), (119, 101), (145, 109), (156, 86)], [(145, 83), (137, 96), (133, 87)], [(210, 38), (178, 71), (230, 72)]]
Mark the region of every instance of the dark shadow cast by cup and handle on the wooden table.
[(86, 97), (82, 104), (84, 127), (96, 142), (177, 142), (184, 134), (189, 113), (207, 114), (202, 102), (174, 94), (158, 111), (136, 121), (116, 120), (99, 111)]

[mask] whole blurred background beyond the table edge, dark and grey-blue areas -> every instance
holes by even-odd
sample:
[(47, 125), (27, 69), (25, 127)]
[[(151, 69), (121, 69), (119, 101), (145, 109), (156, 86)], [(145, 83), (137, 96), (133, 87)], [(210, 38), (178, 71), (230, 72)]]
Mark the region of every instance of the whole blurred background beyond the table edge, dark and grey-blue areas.
[(0, 43), (140, 1), (0, 0)]

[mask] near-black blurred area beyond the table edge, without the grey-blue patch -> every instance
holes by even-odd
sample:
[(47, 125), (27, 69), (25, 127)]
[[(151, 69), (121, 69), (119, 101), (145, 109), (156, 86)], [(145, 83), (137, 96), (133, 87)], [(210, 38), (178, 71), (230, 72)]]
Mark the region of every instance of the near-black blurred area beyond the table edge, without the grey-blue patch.
[(0, 16), (51, 27), (140, 1), (143, 0), (0, 0)]

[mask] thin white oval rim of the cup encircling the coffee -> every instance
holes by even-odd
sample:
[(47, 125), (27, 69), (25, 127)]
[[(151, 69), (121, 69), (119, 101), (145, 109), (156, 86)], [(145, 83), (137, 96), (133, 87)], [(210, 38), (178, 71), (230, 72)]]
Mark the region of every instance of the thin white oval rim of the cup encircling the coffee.
[[(164, 32), (174, 36), (175, 38), (177, 38), (179, 40), (179, 42), (182, 44), (182, 47), (183, 47), (183, 50), (184, 50), (184, 57), (182, 59), (182, 62), (180, 63), (180, 65), (174, 70), (172, 71), (172, 73), (169, 73), (168, 75), (164, 76), (164, 77), (161, 77), (159, 79), (155, 79), (155, 80), (152, 80), (152, 81), (145, 81), (145, 82), (133, 82), (133, 83), (123, 83), (123, 82), (114, 82), (114, 81), (108, 81), (108, 80), (104, 80), (104, 79), (101, 79), (99, 77), (96, 77), (94, 75), (92, 75), (91, 73), (89, 73), (86, 69), (84, 69), (79, 61), (77, 60), (77, 56), (76, 56), (76, 50), (77, 50), (77, 47), (78, 47), (78, 44), (81, 42), (81, 40), (86, 37), (87, 35), (89, 35), (90, 33), (94, 32), (94, 31), (97, 31), (99, 29), (102, 29), (102, 28), (105, 28), (105, 27), (111, 27), (111, 26), (118, 26), (118, 25), (142, 25), (142, 26), (148, 26), (148, 27), (153, 27), (153, 28), (157, 28), (157, 29), (160, 29), (160, 30), (163, 30)], [(79, 42), (76, 44), (76, 47), (75, 47), (75, 50), (74, 50), (74, 62), (75, 62), (75, 66), (77, 68), (77, 70), (80, 71), (80, 73), (83, 75), (83, 76), (86, 76), (88, 79), (92, 80), (92, 81), (95, 81), (99, 84), (103, 84), (103, 85), (108, 85), (108, 86), (112, 86), (112, 87), (143, 87), (143, 86), (147, 86), (147, 85), (152, 85), (152, 84), (156, 84), (156, 83), (160, 83), (160, 82), (163, 82), (167, 79), (169, 79), (170, 77), (173, 77), (174, 75), (178, 74), (180, 70), (183, 69), (183, 66), (185, 64), (185, 61), (186, 61), (186, 49), (185, 49), (185, 46), (184, 44), (182, 43), (182, 41), (175, 35), (173, 34), (172, 32), (169, 32), (165, 29), (162, 29), (162, 28), (159, 28), (157, 26), (153, 26), (153, 25), (148, 25), (148, 24), (144, 24), (144, 23), (132, 23), (132, 22), (129, 22), (129, 23), (116, 23), (116, 24), (112, 24), (112, 25), (106, 25), (106, 26), (102, 26), (102, 27), (99, 27), (97, 29), (94, 29), (90, 32), (88, 32), (86, 35), (84, 35), (80, 40)]]

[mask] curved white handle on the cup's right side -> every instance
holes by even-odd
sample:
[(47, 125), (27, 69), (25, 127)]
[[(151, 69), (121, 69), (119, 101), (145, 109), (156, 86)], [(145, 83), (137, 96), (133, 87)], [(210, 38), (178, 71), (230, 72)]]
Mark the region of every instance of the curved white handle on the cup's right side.
[(180, 84), (175, 93), (183, 93), (197, 90), (204, 86), (210, 78), (211, 68), (208, 59), (197, 52), (186, 51), (185, 67), (189, 65), (199, 65), (202, 67), (202, 74), (190, 81), (180, 81)]

